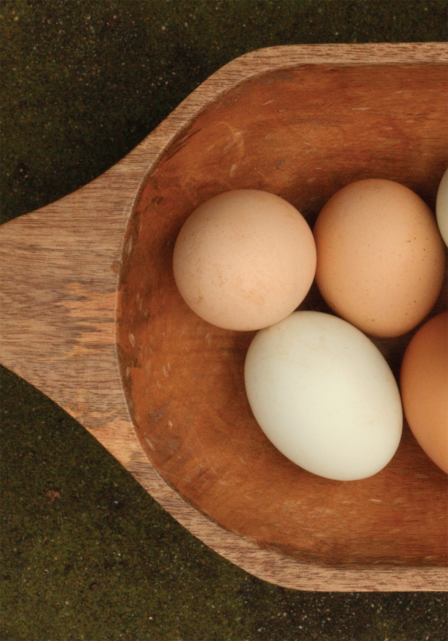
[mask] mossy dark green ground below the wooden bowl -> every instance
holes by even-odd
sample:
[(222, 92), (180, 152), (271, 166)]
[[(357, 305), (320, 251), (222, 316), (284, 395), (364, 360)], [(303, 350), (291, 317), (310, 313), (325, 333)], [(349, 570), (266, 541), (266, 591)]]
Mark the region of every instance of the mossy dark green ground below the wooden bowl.
[(246, 574), (43, 394), (3, 368), (1, 387), (2, 640), (446, 637), (444, 594), (296, 592)]

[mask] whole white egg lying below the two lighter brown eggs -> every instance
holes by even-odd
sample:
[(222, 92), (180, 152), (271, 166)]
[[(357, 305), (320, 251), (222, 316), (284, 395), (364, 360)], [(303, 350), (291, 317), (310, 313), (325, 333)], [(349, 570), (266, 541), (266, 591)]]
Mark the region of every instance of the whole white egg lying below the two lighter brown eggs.
[(396, 453), (403, 426), (396, 380), (378, 348), (345, 320), (294, 312), (261, 329), (244, 381), (266, 436), (308, 472), (367, 478)]

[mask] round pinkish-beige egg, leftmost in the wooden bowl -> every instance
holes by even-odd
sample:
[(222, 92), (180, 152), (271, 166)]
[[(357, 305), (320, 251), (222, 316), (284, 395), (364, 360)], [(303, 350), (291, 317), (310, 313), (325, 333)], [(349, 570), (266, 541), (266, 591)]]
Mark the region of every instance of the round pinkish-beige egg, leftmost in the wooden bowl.
[(174, 277), (202, 319), (225, 329), (260, 329), (293, 312), (316, 271), (307, 221), (284, 199), (253, 189), (200, 205), (177, 237)]

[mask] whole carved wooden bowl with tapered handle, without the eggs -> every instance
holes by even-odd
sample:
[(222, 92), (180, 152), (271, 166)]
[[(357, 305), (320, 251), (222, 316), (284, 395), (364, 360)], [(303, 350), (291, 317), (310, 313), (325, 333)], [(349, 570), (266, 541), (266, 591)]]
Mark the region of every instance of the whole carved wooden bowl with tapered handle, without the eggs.
[[(365, 482), (327, 483), (285, 463), (241, 390), (250, 335), (192, 317), (173, 289), (173, 239), (196, 204), (243, 184), (276, 190), (310, 222), (338, 185), (372, 172), (433, 206), (447, 163), (445, 62), (445, 44), (433, 43), (246, 54), (100, 178), (1, 229), (3, 364), (79, 420), (191, 533), (279, 585), (446, 589), (446, 477), (406, 432), (401, 458)], [(392, 360), (404, 343), (385, 346)], [(182, 417), (193, 429), (179, 431)], [(235, 472), (232, 447), (243, 445), (250, 465)], [(273, 490), (262, 500), (264, 463), (275, 464), (269, 487), (287, 479), (280, 502)]]

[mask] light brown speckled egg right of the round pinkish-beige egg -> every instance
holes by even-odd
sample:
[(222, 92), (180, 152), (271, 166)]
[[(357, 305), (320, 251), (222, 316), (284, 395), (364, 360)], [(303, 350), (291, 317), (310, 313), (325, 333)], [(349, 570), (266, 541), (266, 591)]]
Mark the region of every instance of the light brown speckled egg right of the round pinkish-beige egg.
[(365, 333), (400, 336), (433, 308), (445, 248), (435, 216), (407, 187), (367, 179), (342, 188), (319, 213), (314, 239), (322, 296)]

